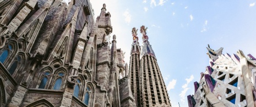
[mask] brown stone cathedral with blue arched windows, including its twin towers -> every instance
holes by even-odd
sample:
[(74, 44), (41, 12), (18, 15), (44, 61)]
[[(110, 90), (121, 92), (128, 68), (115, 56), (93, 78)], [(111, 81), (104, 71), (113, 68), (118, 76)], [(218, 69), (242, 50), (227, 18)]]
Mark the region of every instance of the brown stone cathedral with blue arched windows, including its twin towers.
[(89, 0), (0, 0), (0, 106), (171, 106), (146, 27), (128, 66), (110, 18)]

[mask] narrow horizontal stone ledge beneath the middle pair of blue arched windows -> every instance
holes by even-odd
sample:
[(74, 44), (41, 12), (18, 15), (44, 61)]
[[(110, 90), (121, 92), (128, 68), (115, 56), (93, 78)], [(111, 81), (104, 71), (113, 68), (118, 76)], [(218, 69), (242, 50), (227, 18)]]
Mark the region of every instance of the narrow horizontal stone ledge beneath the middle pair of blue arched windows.
[(56, 91), (56, 90), (52, 90), (52, 89), (29, 88), (29, 93), (59, 94), (59, 95), (62, 95), (63, 91)]

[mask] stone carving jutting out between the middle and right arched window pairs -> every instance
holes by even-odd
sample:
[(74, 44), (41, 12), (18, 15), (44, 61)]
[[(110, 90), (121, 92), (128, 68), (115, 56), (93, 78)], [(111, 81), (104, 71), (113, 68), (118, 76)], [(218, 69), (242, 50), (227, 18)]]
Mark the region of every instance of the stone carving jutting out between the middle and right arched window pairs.
[(68, 87), (73, 88), (75, 85), (76, 78), (78, 77), (78, 70), (77, 69), (70, 69), (70, 74), (68, 76)]

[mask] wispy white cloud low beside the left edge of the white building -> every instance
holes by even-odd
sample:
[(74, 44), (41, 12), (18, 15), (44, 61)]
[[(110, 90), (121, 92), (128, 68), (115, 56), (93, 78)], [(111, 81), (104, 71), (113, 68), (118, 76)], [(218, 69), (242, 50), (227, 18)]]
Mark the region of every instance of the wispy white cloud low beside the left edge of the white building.
[(186, 95), (186, 93), (187, 93), (187, 91), (188, 91), (188, 89), (189, 89), (189, 88), (188, 88), (188, 84), (189, 84), (192, 80), (194, 80), (194, 76), (191, 75), (189, 78), (186, 78), (185, 80), (187, 81), (187, 83), (185, 83), (184, 85), (182, 85), (183, 91), (181, 91), (181, 93), (179, 94), (179, 97), (181, 97), (181, 102), (185, 102), (185, 99), (186, 99), (185, 95)]

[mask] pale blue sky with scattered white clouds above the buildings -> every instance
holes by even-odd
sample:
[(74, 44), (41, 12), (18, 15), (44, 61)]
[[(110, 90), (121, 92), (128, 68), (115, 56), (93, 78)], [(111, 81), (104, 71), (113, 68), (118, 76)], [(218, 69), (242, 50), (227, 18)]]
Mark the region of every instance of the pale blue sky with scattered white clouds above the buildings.
[[(256, 56), (256, 0), (171, 1), (91, 0), (95, 17), (106, 3), (111, 13), (112, 35), (117, 47), (126, 52), (129, 63), (132, 28), (148, 27), (149, 42), (156, 54), (173, 107), (188, 106), (194, 94), (193, 82), (209, 65), (208, 44), (224, 47), (223, 53)], [(141, 34), (138, 32), (141, 42)], [(111, 37), (112, 38), (112, 37)]]

